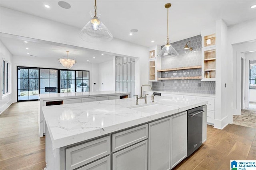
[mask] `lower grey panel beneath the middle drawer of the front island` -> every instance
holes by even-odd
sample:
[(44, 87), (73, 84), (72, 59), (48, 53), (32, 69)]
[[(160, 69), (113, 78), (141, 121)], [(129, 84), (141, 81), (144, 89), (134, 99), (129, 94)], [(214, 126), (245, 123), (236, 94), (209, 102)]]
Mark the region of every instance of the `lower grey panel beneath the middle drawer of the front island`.
[(148, 140), (112, 154), (112, 170), (147, 170)]

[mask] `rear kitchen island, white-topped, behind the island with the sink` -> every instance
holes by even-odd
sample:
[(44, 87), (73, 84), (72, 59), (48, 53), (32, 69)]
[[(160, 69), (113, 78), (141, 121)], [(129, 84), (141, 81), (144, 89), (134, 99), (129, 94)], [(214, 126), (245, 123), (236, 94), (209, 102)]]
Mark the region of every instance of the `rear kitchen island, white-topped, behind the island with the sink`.
[(46, 131), (46, 124), (42, 111), (43, 106), (94, 102), (101, 100), (114, 100), (130, 98), (130, 92), (119, 91), (98, 91), (98, 92), (69, 92), (69, 93), (47, 93), (39, 94), (38, 125), (39, 136), (43, 137)]

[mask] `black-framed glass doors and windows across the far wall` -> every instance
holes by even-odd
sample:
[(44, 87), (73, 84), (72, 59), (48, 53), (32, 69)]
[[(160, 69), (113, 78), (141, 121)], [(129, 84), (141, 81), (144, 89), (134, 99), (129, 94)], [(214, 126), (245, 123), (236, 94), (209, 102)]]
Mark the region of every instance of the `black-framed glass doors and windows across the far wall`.
[(89, 92), (89, 71), (17, 66), (17, 100), (38, 100), (38, 94)]

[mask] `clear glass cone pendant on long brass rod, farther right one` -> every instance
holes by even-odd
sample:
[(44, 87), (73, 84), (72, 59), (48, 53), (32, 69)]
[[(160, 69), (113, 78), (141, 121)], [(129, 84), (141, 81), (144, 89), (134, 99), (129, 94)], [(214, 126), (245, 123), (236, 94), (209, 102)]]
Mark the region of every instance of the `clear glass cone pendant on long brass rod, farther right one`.
[(164, 47), (161, 49), (160, 53), (158, 55), (160, 55), (161, 57), (176, 57), (178, 56), (178, 52), (172, 47), (172, 45), (170, 45), (169, 42), (169, 31), (168, 31), (168, 21), (169, 21), (169, 8), (172, 6), (172, 4), (168, 3), (165, 4), (164, 7), (167, 8), (167, 43), (166, 45), (164, 45)]

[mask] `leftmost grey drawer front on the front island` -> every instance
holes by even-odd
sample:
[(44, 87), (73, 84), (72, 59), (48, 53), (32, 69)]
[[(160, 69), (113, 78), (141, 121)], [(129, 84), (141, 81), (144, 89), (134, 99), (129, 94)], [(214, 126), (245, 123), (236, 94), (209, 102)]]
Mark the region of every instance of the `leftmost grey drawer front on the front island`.
[(73, 170), (110, 154), (110, 136), (66, 149), (66, 170)]

